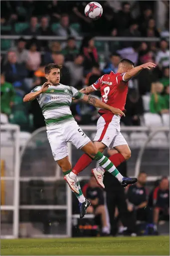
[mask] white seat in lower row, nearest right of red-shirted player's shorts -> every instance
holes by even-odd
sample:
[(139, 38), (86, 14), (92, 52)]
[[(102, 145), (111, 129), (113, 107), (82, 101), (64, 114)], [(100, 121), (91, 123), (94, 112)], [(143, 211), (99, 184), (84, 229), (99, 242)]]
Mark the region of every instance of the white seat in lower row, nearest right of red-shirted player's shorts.
[(130, 135), (130, 145), (132, 147), (142, 147), (148, 136), (145, 132), (132, 132)]

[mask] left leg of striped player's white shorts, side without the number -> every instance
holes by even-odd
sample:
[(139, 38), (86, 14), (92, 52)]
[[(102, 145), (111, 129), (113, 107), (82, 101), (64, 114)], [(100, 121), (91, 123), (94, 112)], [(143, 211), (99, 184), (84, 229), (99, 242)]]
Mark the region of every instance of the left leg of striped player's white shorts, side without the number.
[(61, 128), (47, 130), (47, 137), (55, 161), (68, 156), (67, 143)]

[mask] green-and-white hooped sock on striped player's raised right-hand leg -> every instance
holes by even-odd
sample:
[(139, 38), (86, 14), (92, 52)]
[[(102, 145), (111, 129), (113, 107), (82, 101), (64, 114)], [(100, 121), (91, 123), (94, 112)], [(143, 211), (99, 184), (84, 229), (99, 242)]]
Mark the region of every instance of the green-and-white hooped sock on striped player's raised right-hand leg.
[(123, 176), (116, 169), (116, 166), (102, 153), (97, 152), (94, 159), (99, 163), (99, 165), (106, 171), (110, 172), (114, 177), (116, 177), (120, 182), (122, 182)]

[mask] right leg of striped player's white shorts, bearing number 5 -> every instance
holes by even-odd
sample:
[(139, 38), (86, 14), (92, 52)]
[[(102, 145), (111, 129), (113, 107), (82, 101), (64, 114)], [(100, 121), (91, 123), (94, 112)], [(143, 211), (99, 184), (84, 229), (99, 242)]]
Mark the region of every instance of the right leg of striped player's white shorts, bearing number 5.
[[(68, 124), (67, 127), (64, 128), (64, 132), (66, 141), (71, 142), (77, 149), (82, 149), (86, 144), (91, 142), (76, 121)], [(91, 145), (91, 147), (94, 147), (94, 145)]]

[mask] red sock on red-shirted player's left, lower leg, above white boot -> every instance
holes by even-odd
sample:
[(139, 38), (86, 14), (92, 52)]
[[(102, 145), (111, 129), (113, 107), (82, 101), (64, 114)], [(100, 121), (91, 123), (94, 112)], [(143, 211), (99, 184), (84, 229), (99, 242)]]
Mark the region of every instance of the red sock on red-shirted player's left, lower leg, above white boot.
[(74, 166), (72, 172), (74, 172), (76, 175), (79, 174), (79, 172), (83, 171), (89, 164), (92, 162), (92, 158), (86, 154), (83, 154), (77, 161), (76, 165)]

